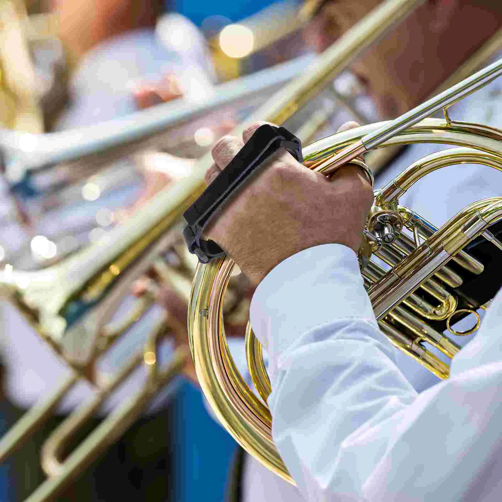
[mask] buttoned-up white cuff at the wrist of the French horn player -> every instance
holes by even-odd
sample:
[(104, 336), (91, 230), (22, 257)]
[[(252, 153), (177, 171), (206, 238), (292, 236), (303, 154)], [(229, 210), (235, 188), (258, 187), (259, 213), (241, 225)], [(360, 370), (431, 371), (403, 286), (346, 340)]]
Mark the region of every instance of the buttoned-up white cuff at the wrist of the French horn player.
[(376, 326), (357, 256), (343, 244), (310, 247), (277, 265), (256, 289), (249, 317), (271, 373), (281, 353), (316, 326), (350, 317)]

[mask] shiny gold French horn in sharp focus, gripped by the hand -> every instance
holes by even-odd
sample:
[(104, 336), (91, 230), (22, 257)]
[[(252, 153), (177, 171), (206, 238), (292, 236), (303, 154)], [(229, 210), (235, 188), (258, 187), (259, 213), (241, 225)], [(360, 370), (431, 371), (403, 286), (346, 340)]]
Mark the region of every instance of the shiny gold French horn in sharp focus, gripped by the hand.
[[(502, 242), (488, 228), (502, 220), (502, 197), (469, 204), (440, 229), (401, 206), (399, 197), (422, 177), (453, 164), (475, 163), (502, 171), (502, 131), (454, 121), (447, 111), (501, 74), (499, 60), (393, 121), (359, 127), (303, 149), (305, 166), (329, 174), (374, 148), (455, 146), (416, 161), (375, 192), (359, 250), (364, 284), (381, 330), (441, 379), (448, 378), (448, 364), (425, 343), (453, 357), (460, 347), (443, 331), (465, 335), (477, 330), (476, 310), (486, 309), (500, 287), (497, 258)], [(437, 110), (443, 110), (443, 119), (428, 118)], [(484, 246), (482, 261), (464, 250), (474, 241)], [(372, 254), (391, 270), (371, 261)], [(195, 368), (206, 399), (228, 432), (248, 453), (293, 483), (272, 440), (272, 417), (264, 404), (271, 388), (262, 348), (248, 325), (248, 367), (263, 401), (242, 379), (225, 341), (220, 305), (232, 267), (228, 257), (197, 267), (188, 317)], [(474, 326), (465, 332), (454, 330), (451, 324), (466, 315), (475, 317)]]

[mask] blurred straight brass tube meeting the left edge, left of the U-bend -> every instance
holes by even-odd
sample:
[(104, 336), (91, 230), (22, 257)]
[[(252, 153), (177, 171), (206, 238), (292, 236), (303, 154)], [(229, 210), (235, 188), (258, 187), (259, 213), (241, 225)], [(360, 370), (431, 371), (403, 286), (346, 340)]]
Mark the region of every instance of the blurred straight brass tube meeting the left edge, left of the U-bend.
[(0, 439), (0, 462), (14, 453), (52, 415), (55, 408), (65, 397), (66, 393), (78, 382), (79, 378), (80, 376), (73, 371), (61, 383), (54, 394), (47, 399), (41, 399), (2, 436), (2, 439)]

